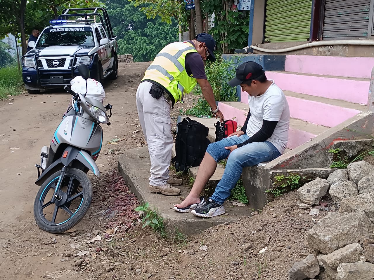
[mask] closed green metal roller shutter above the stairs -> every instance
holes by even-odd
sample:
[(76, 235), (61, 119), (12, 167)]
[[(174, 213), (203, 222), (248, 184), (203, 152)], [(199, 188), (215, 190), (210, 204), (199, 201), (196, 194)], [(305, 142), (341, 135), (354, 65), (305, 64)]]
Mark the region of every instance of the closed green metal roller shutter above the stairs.
[(267, 0), (265, 43), (307, 41), (312, 0)]

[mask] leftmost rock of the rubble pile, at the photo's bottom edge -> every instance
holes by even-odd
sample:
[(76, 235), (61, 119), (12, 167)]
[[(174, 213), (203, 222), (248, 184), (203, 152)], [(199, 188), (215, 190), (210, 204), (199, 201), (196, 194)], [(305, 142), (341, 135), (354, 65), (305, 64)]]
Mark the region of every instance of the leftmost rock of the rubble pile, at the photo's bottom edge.
[(314, 278), (319, 274), (318, 259), (314, 254), (308, 255), (302, 261), (296, 262), (288, 272), (288, 280), (304, 280)]

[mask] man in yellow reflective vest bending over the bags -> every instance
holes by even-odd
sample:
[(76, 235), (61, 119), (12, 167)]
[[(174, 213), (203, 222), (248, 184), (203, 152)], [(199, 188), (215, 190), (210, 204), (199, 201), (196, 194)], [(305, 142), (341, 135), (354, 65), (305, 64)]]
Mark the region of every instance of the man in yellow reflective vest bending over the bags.
[(203, 96), (216, 118), (223, 115), (215, 103), (213, 89), (204, 70), (203, 60), (215, 60), (215, 41), (200, 33), (192, 41), (175, 42), (165, 46), (145, 71), (137, 90), (140, 124), (147, 140), (151, 159), (151, 192), (179, 195), (182, 180), (169, 178), (173, 147), (170, 110), (175, 102), (183, 102), (184, 94), (199, 83)]

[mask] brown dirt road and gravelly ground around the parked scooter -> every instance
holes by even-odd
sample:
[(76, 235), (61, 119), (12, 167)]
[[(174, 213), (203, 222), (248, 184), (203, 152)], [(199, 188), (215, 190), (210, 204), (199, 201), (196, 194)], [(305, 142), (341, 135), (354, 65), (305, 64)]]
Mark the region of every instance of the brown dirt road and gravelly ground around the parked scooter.
[[(261, 215), (248, 213), (237, 223), (193, 237), (167, 240), (141, 228), (134, 213), (138, 201), (117, 173), (117, 156), (145, 144), (141, 131), (132, 132), (141, 129), (135, 93), (148, 64), (121, 63), (118, 80), (104, 84), (113, 116), (111, 126), (103, 126), (105, 144), (96, 161), (102, 177), (90, 175), (92, 205), (72, 233), (46, 233), (33, 218), (39, 189), (34, 164), (39, 164), (40, 148), (49, 143), (70, 95), (24, 94), (0, 102), (0, 279), (280, 280), (310, 253), (306, 232), (327, 211), (308, 215), (296, 206), (294, 192), (269, 203)], [(189, 108), (192, 99), (176, 105), (172, 118)], [(123, 140), (108, 144), (113, 139)], [(325, 203), (321, 209), (331, 206)], [(101, 240), (92, 241), (97, 235)], [(261, 249), (266, 252), (258, 254)]]

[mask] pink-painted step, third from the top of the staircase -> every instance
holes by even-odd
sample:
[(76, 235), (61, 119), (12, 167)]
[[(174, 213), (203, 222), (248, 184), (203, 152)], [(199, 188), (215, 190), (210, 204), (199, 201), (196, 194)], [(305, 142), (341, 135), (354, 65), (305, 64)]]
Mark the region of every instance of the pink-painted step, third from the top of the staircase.
[[(334, 127), (343, 121), (365, 111), (367, 106), (342, 100), (327, 99), (318, 96), (283, 91), (288, 101), (291, 118), (302, 119), (313, 124)], [(242, 92), (248, 111), (248, 94)], [(243, 100), (243, 99), (242, 99)]]

